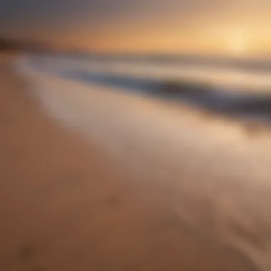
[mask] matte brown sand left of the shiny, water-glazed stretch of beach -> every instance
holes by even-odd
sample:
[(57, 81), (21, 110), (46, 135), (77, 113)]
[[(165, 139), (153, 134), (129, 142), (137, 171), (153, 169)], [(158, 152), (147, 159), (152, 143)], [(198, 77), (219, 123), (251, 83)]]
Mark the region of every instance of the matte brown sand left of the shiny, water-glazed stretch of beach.
[(0, 270), (256, 270), (185, 225), (163, 185), (46, 116), (26, 88), (3, 58)]

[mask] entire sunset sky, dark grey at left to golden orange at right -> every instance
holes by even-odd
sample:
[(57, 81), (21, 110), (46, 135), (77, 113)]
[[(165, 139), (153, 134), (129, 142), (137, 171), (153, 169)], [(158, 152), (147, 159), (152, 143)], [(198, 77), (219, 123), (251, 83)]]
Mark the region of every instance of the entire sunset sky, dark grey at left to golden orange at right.
[(270, 0), (1, 0), (0, 35), (58, 48), (271, 54)]

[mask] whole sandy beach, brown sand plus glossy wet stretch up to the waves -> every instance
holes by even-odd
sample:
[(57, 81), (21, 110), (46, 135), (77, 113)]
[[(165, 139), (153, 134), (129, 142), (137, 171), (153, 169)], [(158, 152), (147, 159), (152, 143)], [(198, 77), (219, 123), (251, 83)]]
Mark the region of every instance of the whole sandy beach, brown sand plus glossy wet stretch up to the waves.
[(13, 61), (1, 56), (0, 270), (270, 270), (269, 136), (74, 93)]

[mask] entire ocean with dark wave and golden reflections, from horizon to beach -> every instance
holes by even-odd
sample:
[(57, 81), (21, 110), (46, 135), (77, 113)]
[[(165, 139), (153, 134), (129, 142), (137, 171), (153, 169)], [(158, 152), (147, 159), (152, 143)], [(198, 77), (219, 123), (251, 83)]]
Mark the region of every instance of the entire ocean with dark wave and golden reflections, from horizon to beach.
[(36, 71), (88, 85), (253, 121), (271, 117), (269, 58), (33, 54), (27, 61)]

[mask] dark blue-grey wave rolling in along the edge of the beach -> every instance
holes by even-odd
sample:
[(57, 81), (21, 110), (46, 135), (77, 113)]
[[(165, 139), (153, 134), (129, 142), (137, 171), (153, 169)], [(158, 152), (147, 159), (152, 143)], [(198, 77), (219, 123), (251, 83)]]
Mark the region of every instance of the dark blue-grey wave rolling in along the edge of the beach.
[[(168, 73), (166, 75), (162, 73), (162, 76), (160, 76), (161, 73), (151, 73), (151, 71), (147, 73), (150, 70), (149, 66), (147, 68), (146, 66), (135, 66), (134, 64), (125, 66), (118, 61), (113, 65), (110, 61), (106, 63), (105, 60), (102, 63), (93, 60), (82, 62), (80, 59), (71, 60), (65, 57), (61, 59), (31, 58), (30, 61), (32, 65), (40, 70), (73, 81), (99, 83), (119, 88), (120, 91), (133, 91), (178, 103), (189, 103), (198, 108), (229, 116), (249, 118), (250, 120), (268, 124), (271, 122), (271, 93), (269, 93), (268, 89), (263, 93), (259, 91), (253, 92), (249, 90), (249, 86), (234, 88), (234, 86), (223, 83), (214, 83), (204, 75), (203, 78), (197, 78), (198, 66), (195, 67), (195, 76), (193, 78), (175, 78), (174, 76), (168, 76)], [(237, 63), (244, 63), (244, 61)], [(165, 67), (159, 68), (163, 69)], [(219, 69), (219, 66), (217, 69)], [(205, 74), (213, 73), (213, 71), (213, 69), (207, 69)], [(223, 73), (223, 71), (220, 72)], [(230, 81), (229, 73), (225, 72), (223, 76), (228, 77), (227, 80)], [(244, 76), (241, 77), (244, 79)], [(262, 80), (264, 81), (264, 78)], [(257, 84), (255, 85), (257, 86)]]

